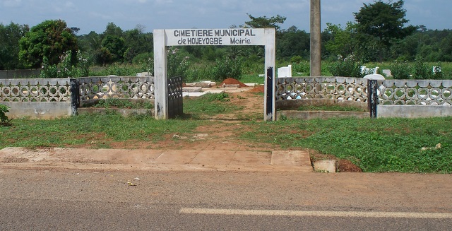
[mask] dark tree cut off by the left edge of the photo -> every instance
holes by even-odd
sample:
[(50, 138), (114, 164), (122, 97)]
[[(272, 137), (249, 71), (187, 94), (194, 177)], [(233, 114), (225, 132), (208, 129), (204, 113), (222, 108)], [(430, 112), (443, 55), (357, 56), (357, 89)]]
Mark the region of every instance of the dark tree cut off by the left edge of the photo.
[(30, 28), (28, 25), (0, 23), (0, 69), (21, 69), (19, 62), (19, 40)]

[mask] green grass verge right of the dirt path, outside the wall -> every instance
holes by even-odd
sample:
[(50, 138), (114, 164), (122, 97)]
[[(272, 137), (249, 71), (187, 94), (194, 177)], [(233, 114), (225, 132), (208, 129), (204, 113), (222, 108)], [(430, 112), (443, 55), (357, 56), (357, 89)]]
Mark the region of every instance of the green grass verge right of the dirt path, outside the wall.
[[(269, 125), (271, 124), (271, 125)], [(242, 138), (310, 148), (364, 172), (452, 172), (452, 118), (314, 119), (249, 123)], [(433, 148), (441, 143), (441, 148)], [(427, 150), (422, 150), (427, 149)]]

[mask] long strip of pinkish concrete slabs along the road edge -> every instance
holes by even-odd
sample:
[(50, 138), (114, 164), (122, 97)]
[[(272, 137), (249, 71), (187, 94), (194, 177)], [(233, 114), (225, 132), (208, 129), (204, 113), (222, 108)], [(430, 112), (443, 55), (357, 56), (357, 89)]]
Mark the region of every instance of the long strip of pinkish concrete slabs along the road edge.
[(236, 150), (148, 150), (90, 148), (4, 148), (0, 167), (105, 170), (201, 170), (312, 172), (303, 152)]

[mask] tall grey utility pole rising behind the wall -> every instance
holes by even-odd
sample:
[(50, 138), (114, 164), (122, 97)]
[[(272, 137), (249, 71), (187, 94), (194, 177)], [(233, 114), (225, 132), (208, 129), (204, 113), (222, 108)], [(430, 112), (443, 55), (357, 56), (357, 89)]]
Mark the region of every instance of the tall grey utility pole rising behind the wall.
[(320, 0), (311, 0), (311, 75), (321, 76)]

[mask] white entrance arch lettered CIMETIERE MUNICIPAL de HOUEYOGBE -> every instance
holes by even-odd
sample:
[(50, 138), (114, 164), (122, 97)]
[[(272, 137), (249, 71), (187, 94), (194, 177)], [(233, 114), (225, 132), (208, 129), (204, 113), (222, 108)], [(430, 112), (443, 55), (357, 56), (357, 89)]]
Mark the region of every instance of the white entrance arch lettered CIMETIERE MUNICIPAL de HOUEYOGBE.
[[(264, 120), (275, 120), (275, 29), (182, 29), (154, 30), (155, 119), (169, 119), (169, 92), (166, 47), (171, 46), (265, 46)], [(171, 105), (174, 105), (171, 103)], [(179, 104), (177, 104), (179, 105)]]

